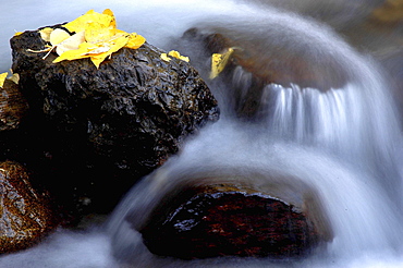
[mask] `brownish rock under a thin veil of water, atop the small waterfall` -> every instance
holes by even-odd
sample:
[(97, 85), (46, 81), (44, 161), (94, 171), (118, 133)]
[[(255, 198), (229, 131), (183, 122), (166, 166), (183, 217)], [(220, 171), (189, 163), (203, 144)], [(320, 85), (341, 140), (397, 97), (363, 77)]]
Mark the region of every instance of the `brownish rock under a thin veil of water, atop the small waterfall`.
[(259, 117), (262, 99), (270, 99), (265, 90), (270, 84), (284, 87), (295, 84), (325, 92), (343, 86), (349, 78), (349, 73), (340, 68), (333, 56), (319, 51), (320, 56), (315, 58), (309, 53), (308, 44), (291, 39), (292, 34), (270, 34), (278, 31), (270, 27), (200, 26), (186, 31), (182, 37), (184, 46), (181, 49), (196, 59), (195, 66), (205, 77), (209, 75), (211, 54), (234, 48), (224, 71), (211, 83), (230, 88), (231, 94), (222, 101), (230, 102), (239, 118)]

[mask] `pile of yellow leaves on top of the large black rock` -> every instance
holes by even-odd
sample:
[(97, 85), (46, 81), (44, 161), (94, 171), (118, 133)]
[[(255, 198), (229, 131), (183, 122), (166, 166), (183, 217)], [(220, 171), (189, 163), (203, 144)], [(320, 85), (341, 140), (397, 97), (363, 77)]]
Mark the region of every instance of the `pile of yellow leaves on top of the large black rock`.
[(41, 51), (49, 51), (50, 53), (56, 49), (59, 57), (54, 59), (54, 63), (90, 58), (93, 63), (99, 68), (106, 58), (111, 57), (119, 49), (123, 47), (137, 49), (146, 41), (136, 33), (129, 34), (118, 29), (113, 12), (109, 9), (102, 13), (90, 10), (63, 27), (74, 34), (70, 35), (61, 28), (44, 28), (39, 32), (40, 36), (49, 41), (51, 47)]

